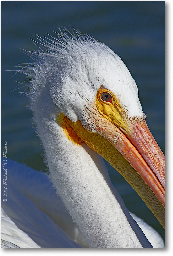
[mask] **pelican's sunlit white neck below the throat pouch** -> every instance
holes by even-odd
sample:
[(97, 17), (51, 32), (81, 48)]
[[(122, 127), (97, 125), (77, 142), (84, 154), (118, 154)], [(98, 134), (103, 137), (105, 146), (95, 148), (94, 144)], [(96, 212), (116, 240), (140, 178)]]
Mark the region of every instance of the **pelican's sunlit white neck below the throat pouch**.
[(103, 159), (86, 144), (68, 140), (55, 118), (40, 120), (51, 180), (88, 245), (150, 247), (113, 188)]

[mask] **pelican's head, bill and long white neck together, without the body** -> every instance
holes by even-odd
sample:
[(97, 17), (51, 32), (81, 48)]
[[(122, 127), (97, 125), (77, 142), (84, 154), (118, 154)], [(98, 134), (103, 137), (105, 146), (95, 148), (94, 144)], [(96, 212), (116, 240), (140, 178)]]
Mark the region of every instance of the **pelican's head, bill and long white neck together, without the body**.
[(89, 36), (57, 35), (51, 42), (40, 39), (45, 49), (30, 53), (35, 62), (21, 70), (30, 83), (50, 179), (89, 247), (152, 247), (138, 217), (132, 214), (139, 226), (111, 184), (101, 157), (164, 226), (164, 155), (146, 125), (136, 83), (104, 44)]

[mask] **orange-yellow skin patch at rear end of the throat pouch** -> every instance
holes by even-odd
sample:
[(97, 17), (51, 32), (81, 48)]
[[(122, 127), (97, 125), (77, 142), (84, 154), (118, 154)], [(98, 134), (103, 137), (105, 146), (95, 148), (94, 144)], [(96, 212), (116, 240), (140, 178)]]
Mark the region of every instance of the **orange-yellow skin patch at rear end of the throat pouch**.
[(70, 141), (76, 145), (82, 145), (84, 143), (73, 130), (73, 128), (68, 124), (67, 117), (64, 114), (59, 113), (56, 120), (59, 124), (61, 124), (65, 135)]

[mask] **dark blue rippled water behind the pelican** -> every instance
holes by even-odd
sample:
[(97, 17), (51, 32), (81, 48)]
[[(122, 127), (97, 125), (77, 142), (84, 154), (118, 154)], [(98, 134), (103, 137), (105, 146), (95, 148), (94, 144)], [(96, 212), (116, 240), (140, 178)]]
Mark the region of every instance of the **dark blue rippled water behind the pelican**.
[[(58, 26), (68, 30), (73, 26), (120, 55), (138, 85), (148, 127), (164, 152), (164, 1), (2, 1), (2, 152), (6, 141), (10, 159), (36, 170), (47, 169), (32, 113), (27, 108), (28, 98), (21, 93), (26, 92), (26, 87), (20, 88), (25, 75), (4, 70), (30, 63), (22, 50), (37, 49), (30, 38), (54, 36), (52, 31)], [(107, 166), (128, 210), (164, 237), (164, 229), (142, 199), (119, 173)]]

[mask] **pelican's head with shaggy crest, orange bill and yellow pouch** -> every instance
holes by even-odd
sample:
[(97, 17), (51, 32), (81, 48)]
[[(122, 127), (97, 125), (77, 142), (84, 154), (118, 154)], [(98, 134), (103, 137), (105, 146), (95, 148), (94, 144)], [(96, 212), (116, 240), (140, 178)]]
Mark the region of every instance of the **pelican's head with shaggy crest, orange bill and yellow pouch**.
[[(121, 58), (89, 36), (60, 33), (40, 44), (44, 50), (30, 53), (35, 63), (23, 72), (32, 85), (31, 108), (50, 172), (56, 163), (50, 160), (52, 145), (50, 136), (45, 141), (45, 130), (103, 156), (164, 225), (164, 155), (148, 130), (137, 85)], [(55, 127), (64, 135), (56, 134)]]

